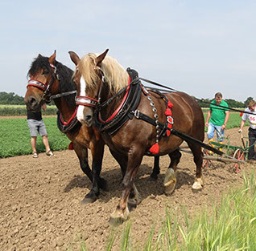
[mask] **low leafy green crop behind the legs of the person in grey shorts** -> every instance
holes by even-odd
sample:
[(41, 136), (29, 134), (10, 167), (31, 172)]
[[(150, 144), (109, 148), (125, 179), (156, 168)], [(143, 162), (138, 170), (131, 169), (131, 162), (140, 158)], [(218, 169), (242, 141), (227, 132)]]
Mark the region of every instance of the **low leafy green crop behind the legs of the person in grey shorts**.
[[(50, 147), (53, 151), (68, 149), (67, 136), (60, 133), (56, 125), (56, 118), (43, 119)], [(28, 155), (32, 153), (31, 135), (27, 126), (27, 119), (0, 119), (0, 158)], [(42, 137), (37, 138), (37, 151), (45, 152)]]

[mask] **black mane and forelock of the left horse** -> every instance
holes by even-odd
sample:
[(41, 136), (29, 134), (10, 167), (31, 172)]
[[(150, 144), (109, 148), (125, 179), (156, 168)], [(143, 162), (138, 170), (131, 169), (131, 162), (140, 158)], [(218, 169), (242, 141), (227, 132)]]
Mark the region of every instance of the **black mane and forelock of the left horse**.
[[(49, 58), (41, 55), (35, 58), (35, 60), (31, 63), (31, 68), (27, 75), (35, 75), (41, 69), (52, 72), (52, 67), (50, 66), (48, 59)], [(56, 74), (60, 77), (59, 93), (76, 90), (76, 83), (72, 81), (73, 71), (58, 61), (56, 61), (54, 64), (57, 68)], [(75, 94), (67, 95), (64, 97), (64, 99), (69, 105), (76, 107)]]

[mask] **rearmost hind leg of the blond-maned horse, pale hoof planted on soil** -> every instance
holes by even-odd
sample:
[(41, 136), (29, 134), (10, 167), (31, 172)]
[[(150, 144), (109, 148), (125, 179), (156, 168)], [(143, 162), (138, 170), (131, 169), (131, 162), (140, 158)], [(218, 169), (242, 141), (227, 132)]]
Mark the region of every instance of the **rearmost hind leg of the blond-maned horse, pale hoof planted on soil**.
[(203, 152), (201, 151), (201, 148), (197, 144), (188, 143), (189, 148), (191, 149), (193, 156), (194, 156), (194, 162), (196, 164), (196, 179), (194, 184), (192, 185), (192, 189), (197, 191), (203, 188), (204, 186), (204, 180), (202, 175), (202, 165), (203, 165)]

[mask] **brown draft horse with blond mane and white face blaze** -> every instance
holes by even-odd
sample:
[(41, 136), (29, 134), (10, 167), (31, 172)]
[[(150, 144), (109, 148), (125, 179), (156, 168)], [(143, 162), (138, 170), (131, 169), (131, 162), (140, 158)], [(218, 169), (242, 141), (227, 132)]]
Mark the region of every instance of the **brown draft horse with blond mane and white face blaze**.
[[(77, 83), (78, 95), (81, 95), (81, 99), (84, 96), (87, 102), (93, 100), (94, 103), (98, 104), (107, 103), (107, 105), (101, 106), (99, 113), (102, 121), (107, 121), (120, 107), (120, 103), (126, 95), (126, 91), (121, 93), (120, 90), (127, 87), (129, 83), (127, 71), (115, 59), (107, 56), (107, 52), (108, 50), (101, 55), (89, 53), (82, 59), (75, 52), (69, 52), (72, 62), (76, 64), (74, 80)], [(196, 140), (204, 141), (204, 116), (196, 101), (184, 92), (173, 92), (165, 95), (173, 104), (173, 128), (196, 138)], [(150, 91), (150, 96), (157, 111), (159, 122), (166, 123), (165, 102), (154, 92)], [(115, 98), (109, 102), (111, 97)], [(90, 127), (93, 118), (95, 119), (97, 105), (96, 108), (89, 106), (79, 106), (79, 108), (80, 112), (77, 112), (77, 118)], [(148, 100), (148, 95), (141, 95), (137, 110), (154, 119), (155, 111), (152, 111), (152, 104)], [(118, 224), (125, 221), (129, 214), (129, 204), (135, 203), (137, 205), (140, 202), (140, 196), (134, 186), (134, 178), (142, 162), (142, 157), (149, 155), (149, 149), (155, 144), (158, 134), (155, 126), (137, 119), (135, 115), (132, 119), (128, 119), (122, 128), (119, 128), (118, 132), (113, 135), (102, 133), (105, 144), (114, 153), (114, 157), (121, 167), (125, 167), (126, 170), (123, 179), (122, 198), (114, 213), (111, 214), (111, 223)], [(183, 140), (172, 134), (159, 138), (159, 153), (155, 156), (168, 154), (171, 158), (171, 164), (164, 180), (167, 194), (170, 194), (175, 188), (175, 171), (180, 162), (179, 146), (182, 142)], [(196, 164), (196, 180), (192, 189), (200, 190), (204, 185), (201, 173), (203, 153), (200, 146), (195, 143), (188, 142), (188, 146), (192, 150)]]

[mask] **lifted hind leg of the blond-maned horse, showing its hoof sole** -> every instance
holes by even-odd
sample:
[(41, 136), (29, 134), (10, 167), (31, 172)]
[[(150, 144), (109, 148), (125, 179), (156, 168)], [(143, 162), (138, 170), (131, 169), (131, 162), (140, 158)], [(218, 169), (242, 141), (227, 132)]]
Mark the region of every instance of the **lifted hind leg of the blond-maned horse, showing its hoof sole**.
[(165, 193), (167, 195), (170, 195), (175, 189), (175, 185), (177, 183), (176, 169), (177, 169), (177, 165), (180, 162), (181, 153), (177, 149), (174, 152), (169, 153), (169, 156), (171, 158), (171, 164), (169, 165), (169, 168), (165, 173), (165, 178), (163, 182), (163, 185), (165, 187)]

